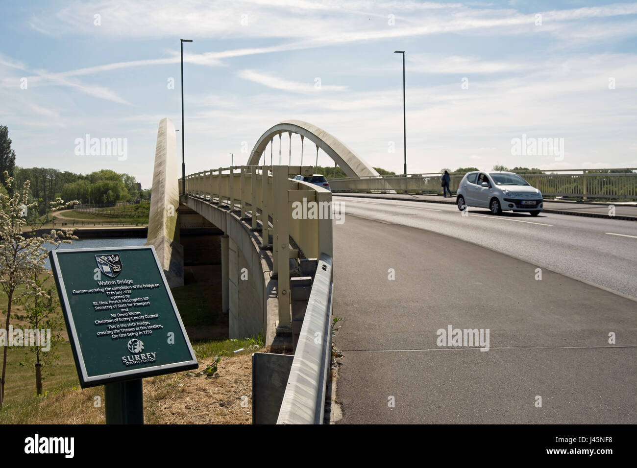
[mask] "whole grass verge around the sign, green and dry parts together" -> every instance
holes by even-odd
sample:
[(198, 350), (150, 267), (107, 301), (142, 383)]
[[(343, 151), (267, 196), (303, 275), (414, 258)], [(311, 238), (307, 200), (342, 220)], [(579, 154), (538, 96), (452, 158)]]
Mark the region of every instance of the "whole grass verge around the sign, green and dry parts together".
[[(176, 288), (175, 302), (183, 311), (187, 327), (201, 327), (211, 320), (204, 314), (204, 294), (197, 289)], [(0, 292), (0, 307), (6, 295)], [(16, 306), (14, 305), (14, 311)], [(13, 315), (13, 314), (12, 314)], [(4, 327), (6, 313), (0, 314)], [(14, 327), (22, 327), (11, 320)], [(195, 325), (198, 324), (198, 325)], [(71, 346), (59, 344), (59, 360), (43, 367), (45, 394), (35, 394), (35, 370), (25, 348), (8, 348), (2, 424), (85, 424), (104, 423), (104, 387), (82, 390), (77, 378)], [(251, 355), (262, 346), (256, 339), (193, 341), (199, 368), (144, 379), (145, 422), (170, 423), (250, 423), (252, 420)], [(242, 351), (238, 351), (243, 348)], [(0, 348), (0, 352), (3, 348)], [(238, 351), (238, 352), (234, 352)], [(208, 377), (205, 369), (220, 357), (217, 372)]]

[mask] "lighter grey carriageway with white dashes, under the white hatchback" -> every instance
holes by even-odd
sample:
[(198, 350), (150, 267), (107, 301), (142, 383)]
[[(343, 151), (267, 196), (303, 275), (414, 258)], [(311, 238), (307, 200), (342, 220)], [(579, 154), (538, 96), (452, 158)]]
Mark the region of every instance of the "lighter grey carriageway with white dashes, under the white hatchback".
[[(439, 197), (440, 198), (440, 197)], [(637, 297), (637, 223), (603, 218), (469, 208), (455, 205), (334, 197), (348, 215), (427, 229), (476, 243), (601, 287)]]

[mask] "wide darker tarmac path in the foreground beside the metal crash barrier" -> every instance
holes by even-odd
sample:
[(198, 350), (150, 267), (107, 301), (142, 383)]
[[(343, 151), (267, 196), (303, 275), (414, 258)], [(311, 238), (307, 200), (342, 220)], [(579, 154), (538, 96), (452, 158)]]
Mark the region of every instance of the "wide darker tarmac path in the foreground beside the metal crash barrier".
[[(341, 423), (634, 422), (631, 299), (387, 217), (335, 224), (334, 257)], [(448, 325), (491, 349), (440, 348)]]

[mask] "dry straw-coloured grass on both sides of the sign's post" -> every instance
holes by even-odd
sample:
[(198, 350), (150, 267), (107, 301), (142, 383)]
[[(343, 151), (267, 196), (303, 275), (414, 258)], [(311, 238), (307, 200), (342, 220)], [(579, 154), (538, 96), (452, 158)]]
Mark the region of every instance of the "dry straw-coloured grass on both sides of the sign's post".
[[(144, 420), (148, 424), (252, 423), (252, 355), (222, 357), (214, 377), (197, 376), (199, 369), (144, 379)], [(194, 376), (193, 376), (194, 375)], [(241, 406), (241, 397), (245, 408)], [(99, 397), (99, 399), (96, 399)], [(73, 388), (28, 405), (8, 423), (103, 424), (104, 387)], [(101, 402), (101, 405), (97, 405)], [(24, 420), (22, 419), (24, 417)]]

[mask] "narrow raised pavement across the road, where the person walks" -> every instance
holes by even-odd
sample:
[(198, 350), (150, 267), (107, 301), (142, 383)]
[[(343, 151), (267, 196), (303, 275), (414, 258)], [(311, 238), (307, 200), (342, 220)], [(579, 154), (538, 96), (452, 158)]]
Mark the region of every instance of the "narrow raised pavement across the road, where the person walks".
[[(429, 203), (454, 204), (455, 195), (443, 197), (442, 195), (412, 195), (412, 194), (355, 194), (355, 193), (334, 193), (340, 197), (366, 197), (385, 200), (410, 200)], [(610, 216), (610, 205), (615, 208), (614, 216)], [(637, 202), (578, 202), (565, 200), (544, 200), (546, 213), (559, 215), (588, 216), (596, 218), (615, 218), (618, 220), (637, 221)]]

